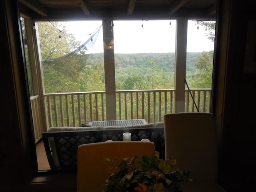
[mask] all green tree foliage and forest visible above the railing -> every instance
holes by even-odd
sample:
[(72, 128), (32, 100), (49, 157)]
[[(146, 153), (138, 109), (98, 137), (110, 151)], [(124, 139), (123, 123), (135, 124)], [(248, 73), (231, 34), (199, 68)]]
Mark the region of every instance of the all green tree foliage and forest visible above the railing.
[[(215, 22), (200, 22), (214, 41)], [(103, 53), (87, 54), (66, 34), (63, 22), (39, 22), (46, 93), (105, 90)], [(61, 36), (61, 38), (59, 38)], [(211, 88), (213, 51), (187, 53), (186, 76), (192, 88)], [(174, 88), (175, 53), (115, 54), (117, 90)]]

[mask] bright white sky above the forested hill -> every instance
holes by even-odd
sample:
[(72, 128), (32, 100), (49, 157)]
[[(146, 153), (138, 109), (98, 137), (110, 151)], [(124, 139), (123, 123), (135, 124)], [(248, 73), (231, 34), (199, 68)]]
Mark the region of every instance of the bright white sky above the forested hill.
[[(175, 52), (176, 21), (171, 20), (118, 21), (114, 20), (114, 50), (115, 53), (163, 53)], [(90, 38), (102, 21), (75, 21), (67, 22), (68, 33), (84, 43)], [(204, 29), (196, 21), (188, 21), (187, 52), (202, 52), (214, 50), (214, 42), (204, 36)], [(102, 29), (92, 52), (103, 52)]]

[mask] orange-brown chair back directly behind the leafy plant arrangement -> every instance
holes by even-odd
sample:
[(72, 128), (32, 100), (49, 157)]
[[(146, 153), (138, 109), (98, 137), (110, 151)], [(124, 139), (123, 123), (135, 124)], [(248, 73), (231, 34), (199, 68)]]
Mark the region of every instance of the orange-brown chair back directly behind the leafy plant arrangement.
[(155, 156), (153, 142), (142, 141), (116, 141), (82, 144), (78, 146), (78, 192), (102, 192), (103, 184), (110, 175), (110, 167), (118, 164), (110, 164), (104, 158), (138, 158), (143, 155)]

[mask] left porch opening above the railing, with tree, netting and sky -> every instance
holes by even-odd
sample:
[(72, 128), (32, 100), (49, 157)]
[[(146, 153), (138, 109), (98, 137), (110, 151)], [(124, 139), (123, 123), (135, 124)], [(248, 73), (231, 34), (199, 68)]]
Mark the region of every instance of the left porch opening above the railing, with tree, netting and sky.
[(37, 24), (46, 93), (105, 90), (101, 21)]

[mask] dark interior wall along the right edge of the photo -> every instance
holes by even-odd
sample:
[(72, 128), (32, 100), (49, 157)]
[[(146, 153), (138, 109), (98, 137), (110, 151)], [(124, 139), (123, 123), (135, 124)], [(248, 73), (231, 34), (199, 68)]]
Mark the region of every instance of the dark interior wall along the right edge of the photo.
[(219, 1), (218, 8), (214, 107), (222, 130), (219, 180), (227, 191), (255, 191), (256, 71), (243, 70), (248, 21), (256, 20), (255, 8), (250, 0)]

